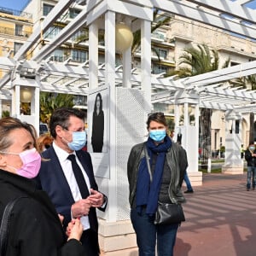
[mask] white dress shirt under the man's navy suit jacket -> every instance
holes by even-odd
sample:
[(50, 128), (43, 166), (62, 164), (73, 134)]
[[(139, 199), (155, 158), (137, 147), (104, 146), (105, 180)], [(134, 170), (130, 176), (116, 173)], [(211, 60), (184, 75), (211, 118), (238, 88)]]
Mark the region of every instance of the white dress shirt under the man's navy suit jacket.
[[(63, 150), (62, 148), (58, 147), (55, 143), (53, 143), (52, 146), (55, 149), (55, 153), (57, 154), (57, 157), (58, 157), (58, 159), (61, 163), (61, 168), (62, 168), (62, 171), (64, 172), (64, 175), (67, 179), (67, 183), (68, 183), (69, 188), (71, 190), (71, 193), (73, 195), (73, 200), (74, 201), (81, 200), (82, 196), (80, 194), (80, 190), (79, 190), (79, 186), (78, 186), (78, 183), (76, 181), (76, 178), (73, 174), (72, 163), (71, 163), (70, 160), (67, 159), (69, 154), (65, 150)], [(87, 188), (88, 188), (89, 193), (90, 193), (89, 177), (87, 176), (86, 172), (84, 171), (84, 168), (81, 165), (81, 163), (79, 161), (79, 158), (77, 157), (75, 151), (73, 152), (73, 154), (76, 156), (77, 163), (78, 163), (80, 169), (83, 172), (85, 183), (86, 183)], [(71, 217), (72, 217), (72, 212), (71, 212)], [(89, 223), (88, 216), (81, 217), (80, 221), (81, 221), (81, 224), (83, 224), (83, 226), (84, 226), (84, 230), (90, 229), (90, 223)]]

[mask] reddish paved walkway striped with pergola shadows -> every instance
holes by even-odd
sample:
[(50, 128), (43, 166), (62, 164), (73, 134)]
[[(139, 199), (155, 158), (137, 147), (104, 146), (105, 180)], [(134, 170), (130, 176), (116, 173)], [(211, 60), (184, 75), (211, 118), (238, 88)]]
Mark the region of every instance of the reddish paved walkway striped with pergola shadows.
[(203, 174), (185, 194), (174, 256), (256, 255), (256, 190), (246, 190), (246, 175)]

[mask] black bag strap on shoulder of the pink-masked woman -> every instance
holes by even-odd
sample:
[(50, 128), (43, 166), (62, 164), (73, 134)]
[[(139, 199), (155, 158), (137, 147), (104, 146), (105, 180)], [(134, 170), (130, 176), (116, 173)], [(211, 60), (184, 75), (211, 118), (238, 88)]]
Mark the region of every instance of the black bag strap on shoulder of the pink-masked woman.
[(24, 196), (16, 197), (14, 200), (9, 201), (4, 208), (3, 218), (0, 226), (0, 256), (4, 256), (6, 253), (11, 212), (15, 206), (15, 203), (22, 197)]

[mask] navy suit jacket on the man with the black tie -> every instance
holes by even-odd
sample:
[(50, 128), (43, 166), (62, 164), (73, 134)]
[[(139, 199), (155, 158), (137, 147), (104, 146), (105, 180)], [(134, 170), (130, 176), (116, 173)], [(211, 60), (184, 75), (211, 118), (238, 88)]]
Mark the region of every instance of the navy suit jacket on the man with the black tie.
[[(76, 151), (76, 154), (84, 167), (84, 171), (90, 179), (90, 188), (98, 190), (96, 180), (94, 177), (93, 167), (91, 163), (90, 154), (84, 152), (83, 150)], [(60, 161), (55, 154), (53, 147), (50, 147), (43, 152), (42, 156), (44, 159), (41, 164), (40, 172), (36, 178), (38, 186), (40, 189), (46, 191), (49, 198), (55, 205), (56, 211), (64, 216), (63, 225), (67, 227), (67, 224), (71, 220), (71, 206), (75, 202), (71, 189), (67, 183), (67, 179), (62, 171)], [(90, 190), (90, 188), (88, 188)], [(104, 195), (105, 199), (107, 197)], [(107, 204), (105, 206), (99, 207), (101, 211), (105, 211)], [(96, 218), (96, 208), (91, 207), (89, 212), (90, 229), (96, 231), (98, 230), (98, 222)]]

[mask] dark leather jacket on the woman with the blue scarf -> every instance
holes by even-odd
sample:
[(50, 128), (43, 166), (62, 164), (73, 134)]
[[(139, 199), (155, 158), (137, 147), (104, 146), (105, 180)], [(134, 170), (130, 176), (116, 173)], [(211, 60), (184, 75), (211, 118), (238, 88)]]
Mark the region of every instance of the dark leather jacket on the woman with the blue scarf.
[[(127, 175), (129, 181), (129, 201), (131, 208), (135, 206), (135, 196), (137, 187), (137, 172), (141, 160), (145, 156), (144, 154), (144, 143), (140, 143), (131, 148), (127, 163)], [(177, 143), (172, 143), (172, 147), (166, 153), (167, 165), (172, 170), (172, 179), (169, 186), (169, 196), (172, 203), (183, 203), (185, 198), (181, 192), (181, 186), (183, 183), (183, 177), (188, 167), (188, 160), (186, 151)]]

